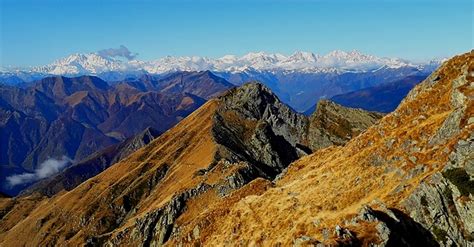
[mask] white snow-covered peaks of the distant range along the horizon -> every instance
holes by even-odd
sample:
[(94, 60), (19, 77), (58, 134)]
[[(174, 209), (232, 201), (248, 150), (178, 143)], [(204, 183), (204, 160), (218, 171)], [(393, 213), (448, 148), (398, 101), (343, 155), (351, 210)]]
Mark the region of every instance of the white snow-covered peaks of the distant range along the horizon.
[[(220, 58), (207, 57), (172, 57), (166, 56), (153, 61), (123, 60), (101, 56), (98, 53), (73, 54), (45, 66), (29, 69), (10, 69), (3, 73), (41, 73), (49, 75), (80, 75), (101, 74), (107, 72), (143, 71), (150, 74), (162, 74), (173, 71), (203, 71), (243, 72), (247, 70), (269, 71), (298, 71), (307, 73), (317, 72), (366, 72), (383, 67), (401, 68), (424, 67), (436, 65), (441, 61), (433, 60), (428, 63), (412, 63), (398, 58), (380, 58), (362, 54), (358, 51), (332, 51), (326, 55), (311, 52), (295, 52), (290, 56), (282, 54), (267, 54), (252, 52), (244, 56), (226, 55)], [(433, 64), (434, 63), (434, 64)]]

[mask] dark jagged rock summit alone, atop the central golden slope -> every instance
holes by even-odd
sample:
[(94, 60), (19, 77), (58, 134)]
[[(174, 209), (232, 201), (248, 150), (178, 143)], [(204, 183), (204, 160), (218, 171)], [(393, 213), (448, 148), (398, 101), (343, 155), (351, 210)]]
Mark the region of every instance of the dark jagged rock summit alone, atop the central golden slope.
[(292, 161), (308, 154), (308, 120), (292, 111), (264, 85), (248, 83), (220, 97), (213, 137), (216, 162), (246, 161), (261, 177), (274, 178)]

